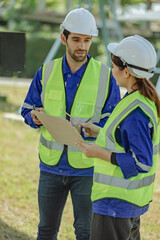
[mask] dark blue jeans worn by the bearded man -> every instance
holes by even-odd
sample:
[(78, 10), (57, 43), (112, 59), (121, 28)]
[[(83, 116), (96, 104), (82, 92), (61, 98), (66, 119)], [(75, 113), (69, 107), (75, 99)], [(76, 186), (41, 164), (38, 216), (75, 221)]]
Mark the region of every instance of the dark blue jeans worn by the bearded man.
[(92, 214), (92, 177), (60, 176), (40, 172), (38, 203), (40, 222), (37, 240), (57, 240), (63, 209), (70, 191), (77, 240), (89, 240)]

